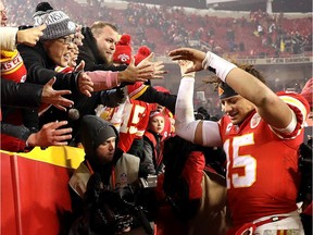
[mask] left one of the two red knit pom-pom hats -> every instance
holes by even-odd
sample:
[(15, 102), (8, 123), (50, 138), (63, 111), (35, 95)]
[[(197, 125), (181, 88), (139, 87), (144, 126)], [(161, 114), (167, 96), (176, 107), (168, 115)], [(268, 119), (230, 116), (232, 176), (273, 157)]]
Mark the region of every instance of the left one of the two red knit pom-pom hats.
[(130, 35), (123, 34), (116, 44), (113, 54), (113, 62), (118, 64), (129, 64), (132, 59)]

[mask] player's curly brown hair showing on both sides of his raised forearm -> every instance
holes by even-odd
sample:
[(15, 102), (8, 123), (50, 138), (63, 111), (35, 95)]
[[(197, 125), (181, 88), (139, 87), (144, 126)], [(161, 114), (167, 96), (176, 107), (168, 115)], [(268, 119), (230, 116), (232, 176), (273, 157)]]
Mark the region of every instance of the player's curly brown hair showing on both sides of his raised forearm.
[[(260, 79), (263, 84), (266, 84), (265, 77), (262, 75), (260, 71), (258, 71), (253, 64), (240, 64), (238, 62), (231, 61), (235, 65), (240, 67), (241, 70), (246, 71), (247, 73), (250, 73), (251, 75), (255, 76), (258, 79)], [(203, 81), (203, 83), (206, 84), (213, 84), (214, 90), (217, 90), (217, 87), (221, 83), (223, 83), (215, 74), (209, 76), (206, 79)]]

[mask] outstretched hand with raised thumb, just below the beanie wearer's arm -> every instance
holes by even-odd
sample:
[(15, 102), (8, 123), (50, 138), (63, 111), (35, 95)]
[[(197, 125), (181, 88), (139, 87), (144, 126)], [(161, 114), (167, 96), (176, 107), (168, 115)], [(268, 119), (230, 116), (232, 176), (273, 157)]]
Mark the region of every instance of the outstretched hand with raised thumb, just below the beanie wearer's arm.
[(72, 94), (71, 90), (54, 90), (52, 88), (55, 83), (55, 77), (51, 78), (42, 88), (41, 102), (52, 104), (55, 108), (66, 111), (66, 108), (71, 108), (74, 102), (62, 96)]

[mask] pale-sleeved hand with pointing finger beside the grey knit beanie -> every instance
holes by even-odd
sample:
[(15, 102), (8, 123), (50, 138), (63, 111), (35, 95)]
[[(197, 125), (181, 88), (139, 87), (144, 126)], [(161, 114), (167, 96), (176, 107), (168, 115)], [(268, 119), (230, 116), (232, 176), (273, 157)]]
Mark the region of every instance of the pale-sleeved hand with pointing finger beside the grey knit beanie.
[(46, 27), (47, 25), (43, 24), (38, 27), (17, 30), (16, 42), (34, 47), (37, 41), (39, 41), (39, 38), (43, 35), (43, 30), (46, 29)]

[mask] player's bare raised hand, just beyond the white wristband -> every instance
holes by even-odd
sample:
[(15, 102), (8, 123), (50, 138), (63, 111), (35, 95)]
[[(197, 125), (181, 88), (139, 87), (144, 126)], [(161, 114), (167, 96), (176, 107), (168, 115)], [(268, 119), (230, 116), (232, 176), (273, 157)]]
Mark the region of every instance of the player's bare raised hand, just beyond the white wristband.
[(168, 55), (172, 57), (173, 61), (177, 61), (177, 60), (192, 61), (193, 65), (190, 66), (186, 71), (186, 73), (203, 70), (202, 61), (205, 58), (205, 52), (203, 51), (196, 50), (192, 48), (179, 48), (179, 49), (170, 51)]

